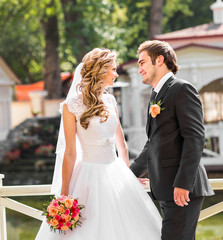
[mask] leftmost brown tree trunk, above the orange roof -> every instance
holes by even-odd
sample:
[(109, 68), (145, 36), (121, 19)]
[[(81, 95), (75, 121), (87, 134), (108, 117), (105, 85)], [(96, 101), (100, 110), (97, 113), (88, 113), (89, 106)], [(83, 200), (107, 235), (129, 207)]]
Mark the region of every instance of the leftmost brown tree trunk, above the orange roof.
[[(48, 7), (54, 7), (54, 0), (51, 0)], [(58, 19), (56, 13), (50, 16), (45, 16), (42, 24), (46, 44), (43, 70), (45, 90), (48, 92), (48, 99), (57, 99), (61, 97), (61, 77), (58, 56)]]

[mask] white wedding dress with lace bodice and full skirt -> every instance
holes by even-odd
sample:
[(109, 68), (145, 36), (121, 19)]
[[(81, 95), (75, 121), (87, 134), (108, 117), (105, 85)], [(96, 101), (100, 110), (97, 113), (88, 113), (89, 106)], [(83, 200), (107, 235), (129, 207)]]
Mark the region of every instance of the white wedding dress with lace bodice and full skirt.
[(66, 234), (54, 233), (46, 220), (36, 240), (160, 240), (161, 216), (143, 186), (115, 149), (118, 126), (115, 98), (103, 94), (110, 115), (101, 123), (90, 120), (86, 129), (80, 125), (85, 110), (82, 97), (65, 101), (77, 119), (77, 135), (83, 150), (76, 162), (69, 194), (85, 205), (82, 226)]

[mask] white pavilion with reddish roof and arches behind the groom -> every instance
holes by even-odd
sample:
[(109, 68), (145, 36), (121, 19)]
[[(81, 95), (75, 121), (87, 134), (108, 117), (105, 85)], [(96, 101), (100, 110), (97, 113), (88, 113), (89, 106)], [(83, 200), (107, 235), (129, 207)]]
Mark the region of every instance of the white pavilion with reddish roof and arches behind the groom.
[[(213, 22), (155, 36), (155, 39), (167, 41), (175, 50), (180, 70), (176, 74), (191, 82), (198, 90), (204, 108), (206, 123), (207, 149), (209, 156), (223, 164), (223, 2), (217, 0), (210, 6), (213, 11)], [(127, 104), (123, 106), (123, 125), (128, 126), (130, 148), (142, 149), (145, 136), (147, 104), (150, 87), (141, 83), (138, 74), (137, 60), (120, 66), (122, 81), (130, 82)], [(124, 101), (125, 102), (125, 101)], [(128, 112), (128, 110), (130, 110)], [(132, 118), (130, 123), (128, 119)], [(135, 129), (135, 131), (134, 131)], [(138, 130), (137, 130), (138, 129)], [(145, 131), (145, 130), (143, 130)], [(209, 138), (208, 138), (209, 137)], [(214, 161), (215, 161), (214, 160)], [(219, 161), (216, 160), (218, 163)], [(214, 163), (214, 162), (212, 162)]]

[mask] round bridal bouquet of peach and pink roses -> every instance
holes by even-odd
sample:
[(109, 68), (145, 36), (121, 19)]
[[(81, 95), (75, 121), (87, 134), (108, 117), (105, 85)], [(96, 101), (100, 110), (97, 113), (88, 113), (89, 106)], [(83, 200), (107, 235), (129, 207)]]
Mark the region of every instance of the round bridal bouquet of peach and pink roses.
[(79, 205), (78, 200), (72, 196), (53, 197), (43, 215), (46, 216), (47, 223), (51, 230), (66, 232), (82, 224), (81, 210), (83, 205)]

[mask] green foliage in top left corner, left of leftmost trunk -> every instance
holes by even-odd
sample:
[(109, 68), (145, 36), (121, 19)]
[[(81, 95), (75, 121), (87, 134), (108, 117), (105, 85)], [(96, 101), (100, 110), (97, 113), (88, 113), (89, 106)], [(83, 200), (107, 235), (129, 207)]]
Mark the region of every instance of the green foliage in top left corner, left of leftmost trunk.
[[(41, 79), (43, 36), (35, 1), (2, 0), (0, 54), (23, 82)], [(36, 16), (35, 16), (36, 14)]]

